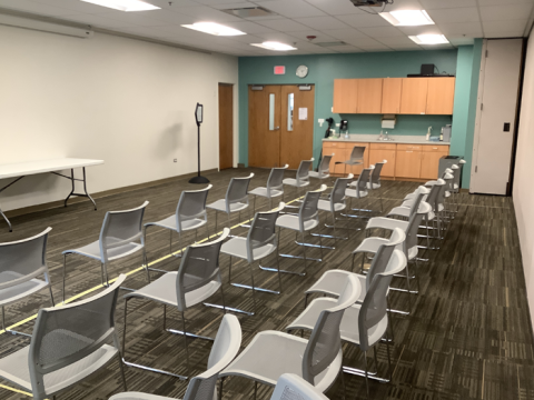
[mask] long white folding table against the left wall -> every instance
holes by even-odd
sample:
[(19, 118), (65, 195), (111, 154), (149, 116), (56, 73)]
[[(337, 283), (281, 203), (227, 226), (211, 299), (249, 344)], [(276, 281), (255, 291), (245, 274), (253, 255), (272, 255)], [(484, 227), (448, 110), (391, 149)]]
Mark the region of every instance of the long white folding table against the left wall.
[[(31, 174), (37, 173), (44, 173), (50, 172), (63, 178), (69, 179), (72, 182), (72, 190), (70, 191), (67, 199), (65, 199), (65, 207), (67, 207), (67, 201), (71, 196), (81, 196), (87, 197), (89, 200), (92, 201), (95, 204), (95, 210), (97, 209), (97, 203), (91, 198), (91, 196), (87, 192), (87, 184), (86, 184), (86, 167), (98, 166), (102, 164), (103, 160), (87, 160), (87, 159), (73, 159), (73, 158), (63, 158), (63, 159), (52, 159), (52, 160), (41, 160), (41, 161), (28, 161), (28, 162), (17, 162), (17, 163), (8, 163), (8, 164), (0, 164), (0, 179), (7, 178), (17, 178), (11, 183), (6, 184), (3, 188), (0, 189), (0, 193), (8, 189), (13, 183), (18, 182), (22, 178)], [(81, 168), (83, 171), (83, 179), (75, 178), (75, 168)], [(57, 171), (70, 169), (70, 177), (63, 176), (58, 173)], [(83, 182), (83, 192), (85, 193), (75, 193), (75, 181)], [(3, 217), (6, 222), (8, 222), (9, 231), (12, 232), (11, 222), (2, 212), (0, 208), (0, 214)]]

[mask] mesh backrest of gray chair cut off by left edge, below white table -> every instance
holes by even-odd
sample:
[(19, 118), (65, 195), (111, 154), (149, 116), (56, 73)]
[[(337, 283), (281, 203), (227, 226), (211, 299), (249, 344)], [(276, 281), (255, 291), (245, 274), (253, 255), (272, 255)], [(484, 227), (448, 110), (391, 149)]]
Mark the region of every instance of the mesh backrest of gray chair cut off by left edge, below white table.
[(0, 290), (29, 281), (44, 273), (50, 281), (47, 267), (47, 228), (34, 237), (0, 243)]

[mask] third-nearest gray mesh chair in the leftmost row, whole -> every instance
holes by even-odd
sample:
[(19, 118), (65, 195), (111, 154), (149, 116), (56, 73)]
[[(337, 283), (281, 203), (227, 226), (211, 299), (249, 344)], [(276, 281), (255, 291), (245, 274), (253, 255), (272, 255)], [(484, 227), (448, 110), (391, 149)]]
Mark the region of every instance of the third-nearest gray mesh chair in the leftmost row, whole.
[[(184, 190), (176, 207), (176, 213), (162, 219), (158, 222), (145, 223), (145, 241), (147, 240), (147, 230), (149, 227), (159, 227), (169, 230), (169, 253), (172, 254), (172, 232), (178, 232), (178, 242), (181, 239), (181, 233), (195, 230), (195, 241), (197, 241), (198, 228), (206, 226), (206, 233), (208, 232), (208, 213), (206, 212), (206, 199), (208, 198), (209, 184), (200, 190)], [(184, 256), (181, 250), (179, 257)], [(148, 261), (148, 260), (147, 260)], [(161, 271), (155, 268), (149, 268), (151, 271)]]

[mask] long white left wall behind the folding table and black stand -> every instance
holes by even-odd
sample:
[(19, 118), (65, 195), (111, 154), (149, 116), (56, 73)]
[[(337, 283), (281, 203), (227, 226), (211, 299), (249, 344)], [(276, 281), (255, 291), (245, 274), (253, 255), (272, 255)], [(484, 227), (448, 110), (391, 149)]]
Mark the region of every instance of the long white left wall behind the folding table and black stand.
[[(217, 90), (225, 82), (235, 84), (237, 166), (236, 57), (0, 27), (0, 163), (103, 159), (87, 170), (90, 192), (194, 172), (198, 101), (202, 169), (218, 168)], [(11, 210), (65, 199), (69, 184), (52, 174), (28, 177), (2, 192), (0, 204)]]

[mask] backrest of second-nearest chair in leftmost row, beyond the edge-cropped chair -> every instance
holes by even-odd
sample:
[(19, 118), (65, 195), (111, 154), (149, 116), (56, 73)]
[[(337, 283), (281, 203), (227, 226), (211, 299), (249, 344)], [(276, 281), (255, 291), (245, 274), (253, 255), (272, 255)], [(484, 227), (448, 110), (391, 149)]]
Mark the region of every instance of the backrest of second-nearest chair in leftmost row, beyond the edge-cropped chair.
[(147, 206), (148, 201), (145, 201), (141, 206), (131, 210), (106, 212), (99, 240), (100, 257), (105, 262), (108, 261), (109, 249), (128, 244), (138, 239), (145, 244), (142, 217)]

